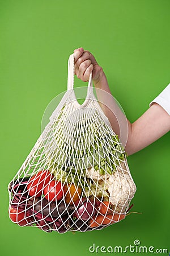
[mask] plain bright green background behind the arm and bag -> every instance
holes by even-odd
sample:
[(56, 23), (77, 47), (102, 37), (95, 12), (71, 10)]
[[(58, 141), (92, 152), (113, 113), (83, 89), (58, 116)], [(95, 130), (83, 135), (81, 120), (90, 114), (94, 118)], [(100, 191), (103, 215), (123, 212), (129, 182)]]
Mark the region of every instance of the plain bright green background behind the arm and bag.
[(133, 210), (142, 214), (73, 235), (21, 228), (7, 213), (7, 184), (39, 137), (46, 106), (66, 90), (69, 55), (78, 47), (95, 55), (134, 122), (169, 83), (169, 9), (168, 0), (0, 1), (1, 255), (91, 255), (92, 243), (136, 239), (169, 250), (169, 133), (128, 158), (137, 185)]

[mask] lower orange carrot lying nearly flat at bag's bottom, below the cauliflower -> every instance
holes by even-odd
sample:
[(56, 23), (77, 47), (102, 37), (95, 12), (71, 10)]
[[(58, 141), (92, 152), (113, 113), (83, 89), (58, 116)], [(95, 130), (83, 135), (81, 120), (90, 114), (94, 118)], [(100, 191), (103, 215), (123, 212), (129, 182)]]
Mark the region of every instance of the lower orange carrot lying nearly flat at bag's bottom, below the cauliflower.
[(96, 228), (97, 226), (100, 225), (108, 225), (108, 224), (113, 224), (118, 221), (123, 220), (126, 217), (125, 214), (108, 214), (108, 215), (98, 215), (95, 220), (91, 218), (90, 220), (90, 228)]

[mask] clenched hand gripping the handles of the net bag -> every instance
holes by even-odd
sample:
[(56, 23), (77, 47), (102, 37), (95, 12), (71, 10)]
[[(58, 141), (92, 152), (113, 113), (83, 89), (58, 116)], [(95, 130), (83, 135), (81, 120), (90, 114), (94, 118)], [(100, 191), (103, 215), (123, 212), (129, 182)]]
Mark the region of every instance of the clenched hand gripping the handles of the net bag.
[(87, 82), (92, 72), (92, 80), (97, 84), (103, 76), (103, 68), (97, 64), (95, 57), (83, 48), (74, 50), (74, 68), (78, 79)]

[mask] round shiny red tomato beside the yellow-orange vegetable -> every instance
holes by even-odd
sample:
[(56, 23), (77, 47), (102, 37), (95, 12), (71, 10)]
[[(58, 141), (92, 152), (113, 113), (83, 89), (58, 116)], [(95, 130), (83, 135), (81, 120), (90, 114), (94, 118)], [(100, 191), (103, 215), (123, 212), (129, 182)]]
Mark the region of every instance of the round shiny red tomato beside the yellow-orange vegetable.
[(52, 180), (44, 188), (44, 196), (46, 200), (49, 201), (56, 201), (62, 199), (64, 193), (65, 187), (62, 186), (61, 181)]

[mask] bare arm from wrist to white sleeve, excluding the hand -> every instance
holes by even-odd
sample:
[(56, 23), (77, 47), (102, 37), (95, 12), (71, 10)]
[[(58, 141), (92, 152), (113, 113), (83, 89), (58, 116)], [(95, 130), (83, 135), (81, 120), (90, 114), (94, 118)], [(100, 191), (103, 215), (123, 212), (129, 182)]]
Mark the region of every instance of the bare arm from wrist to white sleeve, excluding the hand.
[(153, 104), (137, 121), (130, 123), (112, 97), (104, 73), (94, 84), (100, 106), (128, 155), (142, 150), (170, 130), (170, 115), (160, 105)]

